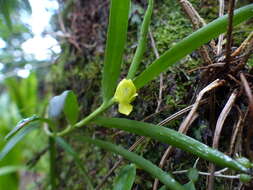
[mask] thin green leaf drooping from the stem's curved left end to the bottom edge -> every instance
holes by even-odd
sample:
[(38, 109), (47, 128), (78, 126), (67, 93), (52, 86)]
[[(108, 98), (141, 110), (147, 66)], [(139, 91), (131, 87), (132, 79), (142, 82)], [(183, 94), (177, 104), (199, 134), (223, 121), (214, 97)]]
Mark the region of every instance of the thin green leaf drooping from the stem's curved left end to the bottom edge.
[(80, 168), (81, 173), (83, 174), (84, 180), (87, 182), (89, 189), (94, 189), (90, 177), (88, 176), (87, 170), (84, 167), (84, 164), (80, 160), (78, 154), (74, 151), (74, 149), (69, 145), (66, 141), (64, 141), (60, 137), (56, 137), (56, 143), (60, 145), (70, 156), (73, 157), (76, 165)]

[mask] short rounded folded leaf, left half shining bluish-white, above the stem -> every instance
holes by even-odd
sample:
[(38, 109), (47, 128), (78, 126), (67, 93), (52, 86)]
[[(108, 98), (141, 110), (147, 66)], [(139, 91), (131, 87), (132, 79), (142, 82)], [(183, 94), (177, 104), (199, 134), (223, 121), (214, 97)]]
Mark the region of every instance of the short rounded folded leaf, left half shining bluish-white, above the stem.
[(50, 100), (48, 115), (52, 119), (59, 119), (64, 113), (71, 125), (74, 125), (79, 117), (79, 108), (74, 92), (67, 90), (61, 95), (55, 96)]

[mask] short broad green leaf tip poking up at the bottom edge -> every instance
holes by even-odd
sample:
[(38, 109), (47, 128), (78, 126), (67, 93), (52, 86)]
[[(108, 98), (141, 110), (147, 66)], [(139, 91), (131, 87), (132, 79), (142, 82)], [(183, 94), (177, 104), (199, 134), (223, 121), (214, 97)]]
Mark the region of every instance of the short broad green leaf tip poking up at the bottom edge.
[(134, 164), (123, 167), (119, 175), (115, 179), (113, 190), (131, 190), (136, 175), (136, 167)]

